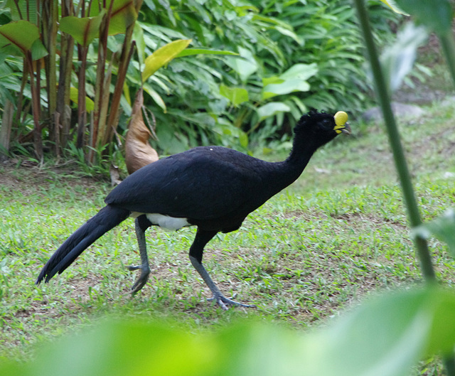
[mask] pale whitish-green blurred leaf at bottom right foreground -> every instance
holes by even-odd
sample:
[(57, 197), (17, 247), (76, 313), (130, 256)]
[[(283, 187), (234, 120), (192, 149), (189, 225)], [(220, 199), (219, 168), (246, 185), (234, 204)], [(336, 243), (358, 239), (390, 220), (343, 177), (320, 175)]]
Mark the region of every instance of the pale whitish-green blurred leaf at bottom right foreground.
[(424, 301), (421, 291), (384, 296), (314, 333), (304, 351), (311, 365), (305, 375), (406, 375), (431, 328)]

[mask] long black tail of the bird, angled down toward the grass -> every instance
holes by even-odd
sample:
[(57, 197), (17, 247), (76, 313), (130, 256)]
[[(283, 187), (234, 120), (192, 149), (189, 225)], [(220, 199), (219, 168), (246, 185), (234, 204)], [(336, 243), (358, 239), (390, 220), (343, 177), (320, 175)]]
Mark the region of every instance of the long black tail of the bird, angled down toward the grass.
[(56, 273), (61, 274), (92, 242), (126, 220), (129, 214), (129, 210), (110, 205), (102, 208), (95, 217), (87, 220), (85, 225), (79, 227), (55, 251), (41, 270), (38, 279), (36, 279), (36, 284), (39, 284), (44, 278), (45, 282), (48, 282)]

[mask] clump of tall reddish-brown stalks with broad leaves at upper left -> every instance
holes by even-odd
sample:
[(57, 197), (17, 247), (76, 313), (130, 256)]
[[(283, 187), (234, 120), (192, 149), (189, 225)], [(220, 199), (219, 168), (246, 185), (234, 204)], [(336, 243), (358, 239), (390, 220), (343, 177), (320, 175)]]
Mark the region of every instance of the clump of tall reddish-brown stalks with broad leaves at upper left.
[[(112, 137), (118, 122), (124, 70), (129, 65), (132, 54), (132, 28), (140, 6), (141, 1), (129, 0), (115, 0), (109, 4), (89, 5), (87, 8), (82, 1), (77, 4), (77, 9), (73, 1), (62, 1), (60, 6), (55, 1), (6, 1), (3, 16), (6, 15), (6, 9), (9, 9), (11, 22), (0, 26), (0, 46), (3, 53), (23, 58), (22, 85), (18, 90), (16, 112), (17, 117), (22, 112), (26, 114), (28, 111), (27, 107), (22, 107), (23, 102), (31, 100), (34, 151), (38, 159), (43, 158), (43, 135), (53, 142), (57, 155), (60, 154), (60, 146), (68, 144), (73, 126), (70, 116), (71, 99), (77, 102), (77, 147), (81, 148), (86, 143), (90, 146), (88, 161), (94, 160), (93, 150), (105, 145)], [(119, 50), (112, 48), (110, 40), (111, 50), (108, 56), (108, 36), (118, 33), (125, 34), (121, 48), (119, 45), (115, 45)], [(87, 57), (95, 54), (90, 46), (97, 37), (98, 64), (95, 70), (90, 67)], [(75, 44), (79, 63), (73, 66)], [(113, 65), (117, 72), (117, 82), (111, 102), (109, 87)], [(77, 80), (73, 71), (77, 74)], [(86, 87), (87, 75), (93, 74), (95, 90)], [(72, 81), (78, 85), (72, 87)], [(42, 87), (45, 90), (41, 90)], [(94, 100), (87, 98), (87, 91)], [(85, 137), (87, 112), (91, 113), (88, 140)]]

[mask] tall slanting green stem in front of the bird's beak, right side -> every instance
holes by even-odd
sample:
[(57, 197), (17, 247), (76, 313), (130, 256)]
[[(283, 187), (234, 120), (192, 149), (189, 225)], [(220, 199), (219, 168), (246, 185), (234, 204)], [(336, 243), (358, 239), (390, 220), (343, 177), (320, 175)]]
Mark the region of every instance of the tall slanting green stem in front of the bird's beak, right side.
[[(400, 133), (398, 132), (395, 117), (393, 116), (392, 112), (392, 107), (390, 106), (390, 98), (387, 92), (387, 87), (385, 85), (384, 75), (382, 74), (378, 52), (373, 41), (373, 34), (371, 33), (368, 14), (365, 9), (365, 1), (354, 0), (354, 4), (357, 8), (360, 28), (363, 32), (363, 37), (365, 38), (368, 58), (370, 60), (370, 65), (375, 81), (376, 95), (378, 96), (382, 114), (384, 116), (387, 135), (389, 137), (389, 143), (390, 147), (392, 148), (393, 159), (395, 161), (395, 168), (397, 169), (402, 187), (402, 193), (405, 198), (408, 219), (410, 221), (411, 227), (416, 227), (422, 224), (422, 220), (420, 218), (417, 200), (414, 195), (414, 188), (412, 187), (410, 172), (407, 168), (405, 153), (403, 152), (402, 144), (400, 141)], [(422, 272), (424, 274), (425, 280), (427, 282), (435, 281), (436, 276), (434, 274), (432, 257), (428, 249), (427, 241), (421, 237), (415, 237), (414, 245), (417, 248), (417, 253), (419, 255), (420, 264), (422, 266)]]

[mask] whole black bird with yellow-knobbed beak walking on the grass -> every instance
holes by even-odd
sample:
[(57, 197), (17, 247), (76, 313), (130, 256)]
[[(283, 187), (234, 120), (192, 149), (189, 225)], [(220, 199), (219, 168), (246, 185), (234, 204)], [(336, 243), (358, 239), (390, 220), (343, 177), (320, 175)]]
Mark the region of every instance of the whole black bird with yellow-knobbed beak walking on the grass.
[(350, 134), (346, 112), (335, 116), (311, 111), (294, 129), (291, 154), (282, 162), (266, 162), (220, 146), (200, 146), (151, 163), (128, 176), (105, 199), (106, 206), (57, 249), (36, 284), (62, 273), (87, 247), (127, 217), (135, 218), (141, 274), (132, 286), (139, 291), (149, 279), (145, 230), (151, 225), (178, 230), (198, 227), (190, 260), (215, 300), (249, 306), (225, 298), (202, 264), (203, 249), (217, 232), (237, 230), (245, 217), (300, 176), (316, 149), (338, 134)]

